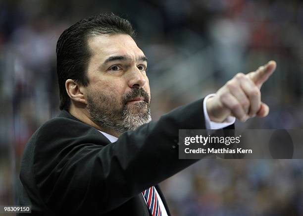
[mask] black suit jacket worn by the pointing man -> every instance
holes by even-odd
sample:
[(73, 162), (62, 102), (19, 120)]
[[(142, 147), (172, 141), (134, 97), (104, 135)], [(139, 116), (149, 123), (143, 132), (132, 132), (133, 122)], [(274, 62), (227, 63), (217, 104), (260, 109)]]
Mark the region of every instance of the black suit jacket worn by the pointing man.
[(36, 215), (149, 216), (141, 192), (156, 185), (169, 214), (157, 184), (197, 161), (178, 159), (178, 129), (205, 129), (203, 100), (114, 143), (63, 110), (26, 144), (19, 205)]

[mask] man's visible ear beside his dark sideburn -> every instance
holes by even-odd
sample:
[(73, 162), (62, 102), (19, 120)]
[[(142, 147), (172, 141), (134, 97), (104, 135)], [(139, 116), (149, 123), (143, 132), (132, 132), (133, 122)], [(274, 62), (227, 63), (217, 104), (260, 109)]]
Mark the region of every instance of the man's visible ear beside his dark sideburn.
[(79, 85), (75, 80), (68, 79), (65, 81), (65, 89), (72, 101), (87, 105), (82, 85)]

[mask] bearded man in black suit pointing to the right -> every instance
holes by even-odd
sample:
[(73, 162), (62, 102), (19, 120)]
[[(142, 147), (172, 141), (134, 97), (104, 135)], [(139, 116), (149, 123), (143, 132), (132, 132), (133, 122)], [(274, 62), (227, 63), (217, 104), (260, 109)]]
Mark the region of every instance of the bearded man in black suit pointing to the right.
[(147, 57), (133, 33), (129, 21), (100, 14), (60, 36), (62, 111), (33, 134), (20, 171), (19, 203), (33, 214), (170, 215), (157, 184), (197, 161), (178, 159), (178, 129), (268, 114), (259, 89), (274, 61), (151, 121)]

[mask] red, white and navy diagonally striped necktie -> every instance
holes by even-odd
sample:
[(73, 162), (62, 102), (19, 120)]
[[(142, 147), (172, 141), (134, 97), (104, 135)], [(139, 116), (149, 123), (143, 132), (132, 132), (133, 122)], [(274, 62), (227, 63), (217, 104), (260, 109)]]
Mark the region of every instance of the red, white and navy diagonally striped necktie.
[(146, 204), (148, 205), (152, 216), (161, 216), (161, 209), (157, 198), (157, 193), (155, 191), (155, 187), (152, 186), (149, 189), (146, 189), (142, 192), (142, 194), (145, 198)]

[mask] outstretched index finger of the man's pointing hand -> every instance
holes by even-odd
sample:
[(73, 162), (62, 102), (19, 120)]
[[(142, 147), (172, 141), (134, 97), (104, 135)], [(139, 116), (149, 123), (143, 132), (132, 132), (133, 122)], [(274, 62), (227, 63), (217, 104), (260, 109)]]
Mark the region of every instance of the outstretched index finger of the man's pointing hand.
[(260, 66), (256, 71), (249, 73), (248, 76), (258, 88), (261, 88), (262, 84), (275, 71), (276, 67), (277, 63), (271, 60), (264, 66)]

